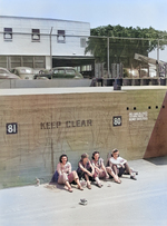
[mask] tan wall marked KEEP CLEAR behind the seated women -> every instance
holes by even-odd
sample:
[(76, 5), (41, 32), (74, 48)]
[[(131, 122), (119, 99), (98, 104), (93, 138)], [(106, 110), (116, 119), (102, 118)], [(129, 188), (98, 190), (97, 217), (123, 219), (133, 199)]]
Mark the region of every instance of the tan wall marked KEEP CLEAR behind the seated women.
[[(91, 156), (94, 150), (99, 150), (105, 160), (114, 148), (127, 159), (144, 158), (146, 153), (151, 157), (147, 146), (166, 104), (166, 89), (89, 89), (0, 94), (1, 188), (32, 184), (36, 176), (48, 181), (62, 153), (69, 156), (73, 169), (82, 153)], [(165, 117), (166, 106), (163, 110)], [(166, 134), (166, 127), (163, 131)], [(167, 140), (163, 141), (157, 156), (167, 155)]]

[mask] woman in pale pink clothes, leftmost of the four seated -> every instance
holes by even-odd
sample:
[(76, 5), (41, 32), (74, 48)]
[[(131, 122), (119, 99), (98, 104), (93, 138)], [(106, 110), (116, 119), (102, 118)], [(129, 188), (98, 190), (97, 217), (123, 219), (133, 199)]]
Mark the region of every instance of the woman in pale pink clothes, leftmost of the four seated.
[(68, 157), (65, 154), (61, 155), (59, 158), (59, 164), (57, 166), (57, 170), (51, 181), (55, 181), (55, 180), (57, 180), (58, 184), (61, 184), (61, 185), (65, 184), (68, 187), (68, 190), (70, 193), (72, 193), (72, 188), (70, 186), (72, 181), (77, 183), (78, 189), (84, 190), (84, 188), (80, 185), (77, 171), (71, 170), (71, 164), (68, 161)]

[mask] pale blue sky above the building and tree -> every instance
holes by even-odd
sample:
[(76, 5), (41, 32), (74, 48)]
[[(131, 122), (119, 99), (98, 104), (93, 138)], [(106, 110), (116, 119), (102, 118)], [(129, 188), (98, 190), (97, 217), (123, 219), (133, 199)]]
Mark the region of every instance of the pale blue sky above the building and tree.
[(0, 14), (167, 30), (167, 0), (0, 0)]

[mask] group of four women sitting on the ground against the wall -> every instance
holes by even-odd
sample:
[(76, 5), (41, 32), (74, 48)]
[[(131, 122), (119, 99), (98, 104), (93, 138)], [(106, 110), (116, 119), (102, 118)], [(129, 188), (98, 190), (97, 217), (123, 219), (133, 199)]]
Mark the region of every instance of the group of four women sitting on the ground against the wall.
[(104, 159), (100, 157), (99, 151), (94, 151), (91, 161), (88, 154), (82, 154), (81, 159), (78, 163), (77, 170), (71, 169), (71, 164), (68, 161), (67, 155), (61, 155), (57, 170), (52, 176), (50, 183), (58, 183), (66, 185), (68, 190), (72, 193), (71, 184), (75, 183), (78, 189), (84, 190), (80, 180), (85, 179), (88, 189), (91, 189), (90, 181), (96, 181), (97, 186), (101, 188), (102, 184), (100, 179), (114, 178), (118, 184), (121, 183), (120, 178), (122, 174), (129, 174), (131, 179), (136, 179), (132, 169), (130, 169), (126, 159), (119, 157), (118, 149), (111, 151), (110, 157), (107, 159), (105, 166)]

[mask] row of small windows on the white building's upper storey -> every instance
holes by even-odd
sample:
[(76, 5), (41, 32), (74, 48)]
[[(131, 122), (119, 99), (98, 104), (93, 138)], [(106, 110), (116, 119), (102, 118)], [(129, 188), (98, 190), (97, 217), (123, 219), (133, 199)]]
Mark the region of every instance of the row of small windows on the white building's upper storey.
[[(12, 28), (4, 28), (3, 29), (3, 39), (4, 40), (12, 40)], [(31, 40), (32, 41), (40, 41), (40, 29), (32, 29), (31, 30)], [(65, 30), (58, 30), (57, 31), (57, 41), (59, 43), (66, 43)], [(80, 47), (86, 47), (86, 38), (80, 39)]]

